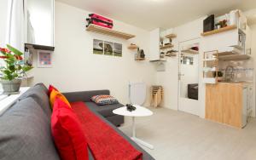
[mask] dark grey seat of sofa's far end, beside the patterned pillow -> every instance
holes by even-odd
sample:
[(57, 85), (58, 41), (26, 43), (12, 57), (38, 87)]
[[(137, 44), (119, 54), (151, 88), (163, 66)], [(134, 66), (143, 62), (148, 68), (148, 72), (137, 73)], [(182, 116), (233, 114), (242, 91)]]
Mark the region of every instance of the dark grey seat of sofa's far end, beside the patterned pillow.
[(106, 105), (106, 106), (98, 106), (94, 102), (85, 102), (86, 106), (88, 106), (91, 110), (97, 111), (103, 117), (112, 117), (116, 114), (113, 113), (113, 110), (122, 107), (122, 104), (114, 104), (114, 105)]

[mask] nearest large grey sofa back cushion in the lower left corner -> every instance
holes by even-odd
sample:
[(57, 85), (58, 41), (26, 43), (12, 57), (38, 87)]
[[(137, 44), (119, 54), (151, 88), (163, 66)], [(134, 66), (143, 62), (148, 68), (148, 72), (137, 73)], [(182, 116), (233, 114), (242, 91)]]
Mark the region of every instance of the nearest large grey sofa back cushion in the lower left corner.
[(48, 117), (31, 97), (20, 100), (0, 117), (1, 160), (60, 159)]

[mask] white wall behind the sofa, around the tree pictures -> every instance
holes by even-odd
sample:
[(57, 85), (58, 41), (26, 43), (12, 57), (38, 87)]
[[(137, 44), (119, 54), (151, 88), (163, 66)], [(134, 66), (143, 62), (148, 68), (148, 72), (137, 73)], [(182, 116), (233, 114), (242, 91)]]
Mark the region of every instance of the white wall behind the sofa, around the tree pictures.
[[(90, 89), (110, 89), (121, 103), (128, 103), (128, 83), (155, 82), (154, 66), (148, 62), (149, 32), (114, 20), (114, 29), (136, 35), (126, 41), (85, 31), (85, 18), (89, 12), (55, 2), (55, 52), (52, 68), (35, 68), (34, 83), (55, 85), (63, 92)], [(123, 57), (92, 54), (93, 38), (123, 44)], [(137, 62), (134, 52), (127, 49), (137, 43), (147, 60)], [(34, 58), (36, 61), (36, 57)], [(149, 101), (149, 99), (148, 99)], [(148, 105), (148, 104), (147, 104)]]

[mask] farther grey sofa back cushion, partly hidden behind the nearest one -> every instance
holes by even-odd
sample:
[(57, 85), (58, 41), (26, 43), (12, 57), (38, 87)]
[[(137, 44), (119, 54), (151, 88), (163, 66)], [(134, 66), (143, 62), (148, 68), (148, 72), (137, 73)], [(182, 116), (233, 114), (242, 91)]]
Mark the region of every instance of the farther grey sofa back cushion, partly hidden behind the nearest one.
[(32, 97), (38, 103), (47, 117), (49, 117), (48, 121), (50, 121), (51, 109), (49, 106), (48, 89), (44, 84), (38, 83), (31, 89), (28, 89), (26, 93), (20, 96), (19, 100), (25, 100), (27, 97)]

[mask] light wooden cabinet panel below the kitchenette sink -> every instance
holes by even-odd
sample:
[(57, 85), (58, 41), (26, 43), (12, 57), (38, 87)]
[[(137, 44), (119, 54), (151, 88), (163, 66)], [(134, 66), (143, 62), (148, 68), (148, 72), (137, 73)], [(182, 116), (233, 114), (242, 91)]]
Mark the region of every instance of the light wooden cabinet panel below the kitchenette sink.
[(243, 83), (207, 84), (206, 118), (242, 128), (247, 119), (247, 92)]

